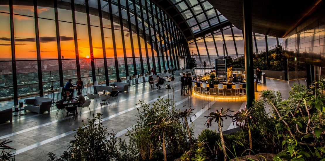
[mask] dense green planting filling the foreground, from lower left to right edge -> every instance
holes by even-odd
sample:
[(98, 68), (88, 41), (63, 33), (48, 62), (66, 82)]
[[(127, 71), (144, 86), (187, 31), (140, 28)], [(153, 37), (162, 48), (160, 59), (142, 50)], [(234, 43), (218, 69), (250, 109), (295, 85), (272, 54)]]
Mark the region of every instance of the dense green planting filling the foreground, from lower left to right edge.
[[(49, 160), (324, 161), (324, 101), (325, 81), (308, 88), (295, 84), (287, 100), (279, 91), (264, 90), (249, 109), (221, 108), (205, 116), (208, 128), (198, 139), (193, 138), (193, 109), (177, 110), (166, 99), (153, 104), (140, 101), (138, 120), (127, 132), (127, 141), (108, 133), (97, 114), (77, 130), (66, 152), (60, 157), (49, 154)], [(225, 119), (241, 130), (222, 133)], [(210, 130), (212, 126), (218, 130)]]

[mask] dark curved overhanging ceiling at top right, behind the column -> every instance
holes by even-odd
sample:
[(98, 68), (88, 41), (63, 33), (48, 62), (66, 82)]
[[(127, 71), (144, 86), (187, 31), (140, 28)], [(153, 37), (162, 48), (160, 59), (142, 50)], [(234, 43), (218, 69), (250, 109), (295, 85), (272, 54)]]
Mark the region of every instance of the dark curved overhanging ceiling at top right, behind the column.
[[(238, 29), (243, 29), (243, 0), (208, 2)], [(252, 0), (253, 32), (283, 38), (323, 5), (322, 0)]]

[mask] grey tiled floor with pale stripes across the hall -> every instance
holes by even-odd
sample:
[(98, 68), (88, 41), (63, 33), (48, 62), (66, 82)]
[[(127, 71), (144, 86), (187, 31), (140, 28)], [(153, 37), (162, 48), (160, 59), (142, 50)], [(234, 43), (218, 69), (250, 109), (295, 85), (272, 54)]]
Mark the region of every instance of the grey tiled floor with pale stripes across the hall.
[[(182, 97), (180, 96), (180, 84), (175, 79), (175, 101), (176, 108), (186, 109), (182, 107)], [(258, 91), (263, 89), (273, 89), (280, 90), (282, 92), (283, 98), (288, 97), (288, 92), (290, 87), (286, 81), (266, 79), (266, 84), (258, 85)], [(256, 98), (258, 98), (259, 92), (255, 93)], [(90, 110), (91, 113), (101, 113), (103, 114), (103, 123), (111, 131), (118, 132), (117, 135), (121, 138), (126, 138), (124, 136), (126, 128), (130, 127), (136, 123), (136, 103), (139, 100), (145, 100), (148, 103), (152, 103), (157, 100), (158, 96), (165, 96), (165, 89), (154, 89), (149, 88), (148, 83), (144, 85), (136, 85), (130, 88), (127, 93), (122, 93), (119, 95), (119, 102), (112, 104), (106, 108), (101, 108), (95, 102), (91, 103)], [(99, 99), (98, 99), (99, 102)], [(4, 102), (0, 102), (4, 105)], [(244, 107), (243, 101), (213, 101), (211, 102), (211, 109), (207, 110), (205, 107), (201, 109), (201, 98), (192, 97), (192, 107), (193, 111), (198, 116), (195, 121), (194, 132), (195, 136), (200, 134), (200, 132), (207, 128), (204, 123), (206, 118), (203, 116), (208, 115), (210, 112), (214, 112), (216, 109), (221, 107), (230, 108), (233, 111), (238, 111), (240, 108)], [(80, 111), (80, 108), (78, 108)], [(233, 112), (235, 113), (235, 112)], [(69, 121), (69, 118), (64, 118), (62, 113), (56, 117), (56, 107), (51, 108), (51, 112), (44, 114), (35, 114), (32, 112), (27, 112), (27, 115), (19, 117), (14, 117), (12, 123), (6, 122), (0, 124), (0, 139), (9, 139), (13, 142), (9, 146), (17, 149), (16, 160), (47, 160), (47, 154), (49, 152), (55, 154), (62, 154), (63, 151), (67, 149), (68, 142), (74, 139), (76, 129), (82, 126), (82, 120), (92, 117), (89, 110), (83, 109), (83, 112), (76, 117), (76, 120)], [(224, 130), (231, 128), (231, 120), (224, 121)], [(213, 125), (212, 129), (217, 129)]]

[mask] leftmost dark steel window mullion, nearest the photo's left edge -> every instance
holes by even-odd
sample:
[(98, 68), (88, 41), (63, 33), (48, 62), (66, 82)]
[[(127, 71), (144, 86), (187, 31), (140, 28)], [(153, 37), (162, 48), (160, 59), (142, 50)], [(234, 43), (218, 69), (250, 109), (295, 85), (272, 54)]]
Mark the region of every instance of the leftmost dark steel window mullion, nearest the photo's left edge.
[(9, 0), (10, 13), (10, 41), (11, 41), (11, 64), (12, 64), (12, 83), (14, 89), (14, 105), (18, 105), (18, 89), (17, 89), (17, 70), (16, 70), (16, 53), (15, 53), (15, 32), (14, 32), (14, 15), (12, 0)]

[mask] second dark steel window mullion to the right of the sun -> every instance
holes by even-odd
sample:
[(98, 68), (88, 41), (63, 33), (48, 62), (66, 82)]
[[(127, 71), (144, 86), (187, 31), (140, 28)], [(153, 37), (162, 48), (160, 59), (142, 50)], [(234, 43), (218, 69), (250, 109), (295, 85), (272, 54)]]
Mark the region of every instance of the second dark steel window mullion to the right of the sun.
[[(54, 0), (54, 1), (56, 1), (56, 0)], [(103, 28), (103, 20), (102, 20), (103, 15), (102, 15), (102, 10), (101, 10), (100, 0), (97, 0), (97, 5), (98, 5), (99, 26), (100, 26), (100, 38), (101, 38), (101, 41), (102, 41), (102, 48), (103, 48), (105, 80), (106, 80), (106, 86), (109, 86), (110, 85), (110, 81), (109, 81), (110, 79), (109, 79), (109, 76), (108, 76), (105, 36), (104, 36), (104, 28)]]

